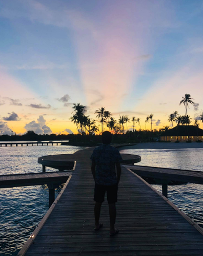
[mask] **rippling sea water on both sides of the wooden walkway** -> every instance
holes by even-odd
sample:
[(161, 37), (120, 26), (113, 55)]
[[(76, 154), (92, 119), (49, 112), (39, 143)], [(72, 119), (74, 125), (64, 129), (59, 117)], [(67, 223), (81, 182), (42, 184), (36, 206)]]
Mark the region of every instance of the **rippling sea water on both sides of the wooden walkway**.
[[(0, 147), (0, 175), (42, 172), (38, 157), (74, 153), (80, 149), (83, 148), (61, 145)], [(140, 165), (203, 171), (202, 149), (127, 149), (121, 153), (140, 155)], [(161, 186), (154, 187), (161, 191)], [(178, 208), (203, 225), (203, 185), (169, 186), (168, 194)], [(47, 186), (0, 189), (0, 255), (17, 254), (49, 209), (48, 196)]]

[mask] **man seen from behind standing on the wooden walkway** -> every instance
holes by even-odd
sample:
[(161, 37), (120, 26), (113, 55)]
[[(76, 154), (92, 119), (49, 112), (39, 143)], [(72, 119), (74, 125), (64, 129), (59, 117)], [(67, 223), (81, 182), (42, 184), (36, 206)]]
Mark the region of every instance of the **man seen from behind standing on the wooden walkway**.
[[(101, 204), (104, 202), (105, 193), (107, 191), (107, 201), (109, 204), (110, 215), (110, 236), (118, 233), (115, 229), (116, 220), (116, 206), (118, 183), (120, 180), (121, 167), (120, 161), (122, 160), (119, 151), (110, 146), (112, 134), (104, 132), (102, 134), (102, 143), (99, 147), (95, 148), (91, 156), (92, 160), (92, 175), (95, 180), (94, 188), (94, 216), (95, 216), (95, 230), (99, 230), (103, 224), (99, 223)], [(115, 170), (116, 167), (116, 170)], [(117, 172), (117, 175), (116, 175)]]

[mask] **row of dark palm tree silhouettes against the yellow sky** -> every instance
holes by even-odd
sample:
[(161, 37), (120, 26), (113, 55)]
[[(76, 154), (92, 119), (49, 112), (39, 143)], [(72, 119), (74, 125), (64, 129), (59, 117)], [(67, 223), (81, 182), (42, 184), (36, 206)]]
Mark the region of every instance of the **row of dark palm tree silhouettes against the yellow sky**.
[[(173, 122), (176, 122), (177, 125), (190, 125), (191, 124), (191, 118), (189, 115), (187, 115), (187, 107), (189, 108), (189, 103), (194, 104), (193, 98), (191, 98), (190, 94), (185, 94), (185, 97), (182, 97), (182, 100), (180, 101), (179, 105), (184, 104), (186, 107), (186, 114), (184, 116), (180, 116), (177, 111), (174, 111), (172, 114), (169, 115), (168, 121), (171, 122), (171, 129), (173, 128)], [(80, 135), (93, 135), (95, 133), (103, 133), (104, 131), (104, 125), (106, 124), (107, 129), (112, 134), (123, 134), (124, 135), (124, 126), (126, 124), (126, 133), (128, 133), (128, 123), (132, 122), (133, 127), (133, 133), (134, 133), (134, 126), (135, 123), (138, 123), (141, 131), (141, 125), (140, 125), (140, 118), (132, 117), (130, 118), (127, 115), (119, 116), (118, 121), (115, 120), (115, 118), (112, 117), (111, 112), (106, 111), (105, 107), (98, 108), (95, 111), (96, 118), (98, 120), (98, 123), (101, 124), (101, 132), (99, 131), (99, 124), (96, 125), (96, 120), (91, 119), (89, 116), (85, 115), (86, 112), (86, 106), (81, 105), (80, 103), (73, 104), (73, 113), (74, 115), (70, 118), (72, 122), (76, 124), (77, 132)], [(145, 131), (147, 131), (147, 123), (151, 121), (151, 131), (153, 131), (153, 119), (154, 114), (150, 114), (147, 116), (145, 120)], [(200, 115), (200, 120), (203, 122), (203, 113)], [(195, 119), (194, 122), (195, 126), (199, 126), (198, 120)], [(169, 126), (165, 126), (159, 131), (167, 131), (169, 130)], [(143, 130), (144, 131), (144, 130)]]

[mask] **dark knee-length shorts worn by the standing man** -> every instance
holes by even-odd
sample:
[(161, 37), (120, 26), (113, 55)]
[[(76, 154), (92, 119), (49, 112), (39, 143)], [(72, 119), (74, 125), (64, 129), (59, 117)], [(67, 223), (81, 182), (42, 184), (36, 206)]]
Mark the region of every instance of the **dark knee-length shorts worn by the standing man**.
[(101, 186), (95, 183), (94, 187), (94, 201), (97, 203), (103, 203), (105, 193), (107, 191), (107, 201), (109, 204), (117, 202), (118, 185)]

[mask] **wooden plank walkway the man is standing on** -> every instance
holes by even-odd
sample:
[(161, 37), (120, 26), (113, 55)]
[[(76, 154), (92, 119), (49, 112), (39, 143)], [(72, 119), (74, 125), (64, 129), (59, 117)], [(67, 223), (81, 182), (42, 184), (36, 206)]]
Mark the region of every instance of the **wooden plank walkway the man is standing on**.
[(116, 204), (119, 234), (109, 236), (106, 200), (100, 215), (103, 228), (94, 231), (91, 153), (90, 148), (72, 155), (72, 177), (18, 255), (203, 255), (202, 229), (125, 167)]

